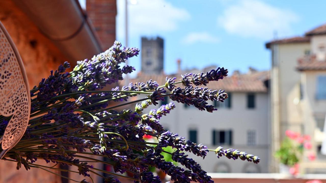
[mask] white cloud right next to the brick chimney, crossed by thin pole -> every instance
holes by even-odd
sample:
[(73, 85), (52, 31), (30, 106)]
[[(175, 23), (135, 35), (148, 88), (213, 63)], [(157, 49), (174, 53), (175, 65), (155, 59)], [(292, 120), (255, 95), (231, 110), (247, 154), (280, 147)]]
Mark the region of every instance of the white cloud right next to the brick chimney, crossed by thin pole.
[[(129, 2), (129, 1), (128, 1)], [(174, 7), (165, 0), (135, 0), (128, 4), (130, 36), (157, 35), (177, 29), (179, 23), (190, 19), (183, 8)], [(125, 1), (118, 0), (117, 37), (125, 35)]]

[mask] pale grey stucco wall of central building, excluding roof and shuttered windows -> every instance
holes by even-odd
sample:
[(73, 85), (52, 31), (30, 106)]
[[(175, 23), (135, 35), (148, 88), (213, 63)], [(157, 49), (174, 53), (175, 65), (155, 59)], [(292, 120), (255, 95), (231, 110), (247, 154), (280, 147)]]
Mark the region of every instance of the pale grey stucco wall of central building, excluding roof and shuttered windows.
[[(233, 161), (226, 157), (217, 158), (210, 152), (204, 160), (195, 155), (189, 157), (200, 163), (203, 170), (214, 172), (220, 164), (226, 164), (232, 173), (242, 173), (246, 168), (258, 167), (261, 173), (268, 172), (269, 160), (269, 124), (268, 124), (268, 94), (256, 93), (256, 107), (247, 108), (247, 93), (232, 93), (231, 108), (220, 108), (213, 113), (200, 111), (193, 107), (184, 107), (184, 104), (175, 103), (176, 108), (160, 120), (161, 124), (173, 133), (189, 139), (189, 130), (197, 130), (197, 142), (210, 149), (218, 146), (212, 145), (212, 130), (232, 130), (233, 145), (224, 148), (235, 148), (247, 153), (258, 155), (261, 162), (254, 165), (252, 162), (241, 160)], [(170, 102), (170, 101), (168, 101)], [(213, 103), (211, 102), (213, 105)], [(154, 107), (154, 106), (153, 106)], [(149, 110), (149, 109), (148, 109)], [(145, 111), (145, 112), (148, 112)], [(247, 130), (256, 130), (257, 145), (247, 146)], [(256, 166), (256, 167), (247, 167)]]

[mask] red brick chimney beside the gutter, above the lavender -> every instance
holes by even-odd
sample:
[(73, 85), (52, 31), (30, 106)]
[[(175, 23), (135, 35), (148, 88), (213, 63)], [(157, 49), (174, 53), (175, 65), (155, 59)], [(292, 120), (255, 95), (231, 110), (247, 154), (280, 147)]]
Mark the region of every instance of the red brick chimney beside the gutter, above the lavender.
[(86, 11), (101, 41), (102, 49), (110, 48), (115, 41), (116, 0), (86, 0)]

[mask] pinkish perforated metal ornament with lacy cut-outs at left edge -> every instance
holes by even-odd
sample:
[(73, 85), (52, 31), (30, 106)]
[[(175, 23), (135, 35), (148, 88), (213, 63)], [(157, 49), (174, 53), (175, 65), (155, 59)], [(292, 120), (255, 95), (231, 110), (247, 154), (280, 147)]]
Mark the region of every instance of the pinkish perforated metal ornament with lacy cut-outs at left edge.
[(22, 59), (0, 22), (0, 115), (11, 116), (0, 139), (3, 151), (13, 148), (26, 131), (30, 115), (30, 92)]

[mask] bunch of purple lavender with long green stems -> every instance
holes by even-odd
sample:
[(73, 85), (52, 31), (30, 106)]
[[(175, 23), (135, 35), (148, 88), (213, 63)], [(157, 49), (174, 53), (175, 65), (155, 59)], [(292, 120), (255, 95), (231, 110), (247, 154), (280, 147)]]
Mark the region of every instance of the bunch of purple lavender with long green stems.
[[(29, 126), (22, 139), (2, 160), (17, 162), (17, 169), (23, 165), (26, 170), (34, 167), (52, 173), (52, 170), (70, 171), (82, 176), (93, 173), (92, 175), (103, 177), (106, 182), (120, 182), (116, 178), (124, 176), (143, 183), (161, 182), (158, 176), (148, 171), (149, 166), (170, 175), (174, 182), (213, 182), (185, 152), (205, 158), (209, 151), (213, 151), (217, 158), (226, 156), (234, 160), (259, 162), (259, 157), (245, 152), (224, 150), (222, 147), (208, 149), (202, 144), (165, 131), (159, 120), (175, 107), (172, 102), (143, 114), (145, 108), (156, 106), (165, 96), (199, 110), (217, 110), (206, 101), (223, 102), (228, 97), (227, 93), (200, 86), (223, 79), (227, 76), (227, 69), (217, 68), (207, 73), (181, 75), (180, 81), (175, 77), (167, 78), (161, 86), (156, 81), (149, 80), (129, 83), (121, 89), (116, 87), (111, 91), (101, 90), (106, 85), (122, 80), (123, 74), (134, 71), (134, 67), (121, 66), (121, 63), (138, 54), (139, 49), (122, 47), (116, 41), (110, 49), (91, 60), (78, 61), (72, 72), (66, 72), (70, 67), (67, 62), (59, 66), (58, 70), (51, 71), (47, 79), (42, 79), (30, 91)], [(179, 83), (180, 87), (177, 87)], [(145, 94), (146, 97), (125, 102), (140, 94)], [(137, 103), (134, 110), (126, 108), (134, 103)], [(9, 117), (0, 116), (0, 138), (8, 120)], [(157, 138), (158, 143), (143, 140), (145, 134)], [(164, 150), (168, 146), (174, 149), (172, 153)], [(184, 168), (165, 161), (163, 152), (170, 154), (172, 160)], [(90, 158), (90, 155), (98, 158)], [(106, 160), (103, 157), (107, 157)], [(86, 161), (80, 161), (80, 158)], [(76, 168), (65, 170), (56, 166), (42, 166), (37, 164), (38, 159)], [(115, 173), (96, 169), (89, 162), (111, 165)], [(98, 172), (112, 176), (105, 177)], [(133, 176), (123, 175), (125, 172)], [(85, 179), (78, 181), (65, 178), (86, 182)]]

